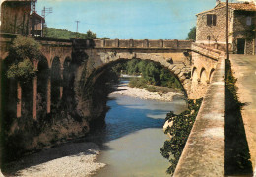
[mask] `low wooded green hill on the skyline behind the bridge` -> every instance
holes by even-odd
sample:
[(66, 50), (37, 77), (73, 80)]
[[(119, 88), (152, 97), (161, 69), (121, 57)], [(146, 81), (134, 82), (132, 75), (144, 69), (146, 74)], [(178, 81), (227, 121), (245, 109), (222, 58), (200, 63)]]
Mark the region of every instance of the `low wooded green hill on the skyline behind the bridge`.
[(88, 30), (86, 34), (71, 32), (66, 29), (55, 29), (46, 28), (45, 37), (59, 38), (59, 39), (70, 39), (70, 38), (81, 38), (81, 39), (96, 39), (96, 33)]

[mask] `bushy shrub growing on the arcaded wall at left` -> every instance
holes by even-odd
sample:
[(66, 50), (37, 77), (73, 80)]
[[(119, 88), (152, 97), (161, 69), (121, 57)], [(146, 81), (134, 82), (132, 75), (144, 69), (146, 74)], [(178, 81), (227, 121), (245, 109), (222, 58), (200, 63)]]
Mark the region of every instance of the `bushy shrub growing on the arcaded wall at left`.
[(32, 62), (41, 58), (40, 49), (40, 44), (32, 37), (18, 36), (11, 46), (7, 59), (7, 78), (25, 83), (32, 80), (35, 75)]

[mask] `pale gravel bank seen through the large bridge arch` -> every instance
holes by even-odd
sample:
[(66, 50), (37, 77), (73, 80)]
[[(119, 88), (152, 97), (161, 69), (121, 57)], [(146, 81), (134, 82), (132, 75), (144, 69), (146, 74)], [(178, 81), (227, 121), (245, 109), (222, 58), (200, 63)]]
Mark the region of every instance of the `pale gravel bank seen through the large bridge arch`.
[(160, 101), (172, 101), (173, 97), (176, 95), (182, 96), (183, 94), (177, 92), (168, 92), (168, 93), (158, 93), (158, 92), (149, 92), (145, 89), (130, 88), (128, 86), (118, 86), (118, 91), (115, 91), (111, 94), (121, 94), (126, 96), (138, 97), (141, 99), (154, 99)]

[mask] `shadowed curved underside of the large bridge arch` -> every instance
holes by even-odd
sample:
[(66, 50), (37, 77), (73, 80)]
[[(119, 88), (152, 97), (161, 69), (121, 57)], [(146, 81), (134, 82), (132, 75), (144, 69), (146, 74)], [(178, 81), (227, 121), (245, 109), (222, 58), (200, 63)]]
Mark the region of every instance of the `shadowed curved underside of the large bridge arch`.
[[(146, 59), (140, 59), (140, 58), (138, 58), (138, 60), (146, 61)], [(130, 59), (120, 58), (118, 60), (108, 62), (102, 65), (101, 67), (96, 68), (94, 72), (91, 73), (91, 75), (87, 78), (87, 80), (84, 80), (83, 83), (80, 83), (79, 90), (81, 92), (81, 97), (80, 97), (81, 99), (79, 100), (78, 105), (79, 105), (79, 110), (81, 110), (81, 113), (83, 114), (83, 116), (90, 115), (90, 117), (94, 117), (94, 116), (97, 117), (97, 115), (95, 114), (102, 113), (101, 119), (98, 118), (98, 120), (104, 119), (104, 110), (106, 109), (107, 94), (109, 93), (107, 92), (107, 87), (104, 86), (106, 80), (108, 79), (106, 73), (109, 68), (114, 67), (119, 63), (124, 63), (128, 61), (130, 61)], [(167, 68), (166, 66), (163, 66), (159, 62), (156, 62), (153, 60), (147, 60), (147, 61), (158, 64), (158, 66), (165, 68), (167, 72), (171, 73), (178, 80), (177, 82), (180, 83), (185, 96), (187, 96), (186, 90), (184, 90), (182, 83), (178, 79), (178, 76), (175, 75), (173, 71), (171, 71), (171, 69)], [(82, 78), (84, 77), (82, 76)], [(79, 80), (82, 81), (83, 80), (82, 78)]]

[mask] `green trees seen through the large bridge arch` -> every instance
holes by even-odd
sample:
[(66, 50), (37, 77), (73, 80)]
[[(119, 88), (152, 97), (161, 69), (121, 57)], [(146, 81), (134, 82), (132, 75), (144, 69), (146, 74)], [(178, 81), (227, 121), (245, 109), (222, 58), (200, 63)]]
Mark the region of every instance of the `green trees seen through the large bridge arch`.
[[(130, 87), (143, 89), (147, 88), (148, 85), (154, 85), (178, 90), (183, 89), (179, 80), (159, 63), (154, 63), (149, 60), (132, 59), (119, 68), (126, 74), (142, 76), (141, 78), (131, 80), (129, 84)], [(153, 88), (151, 88), (151, 90), (152, 89)]]

